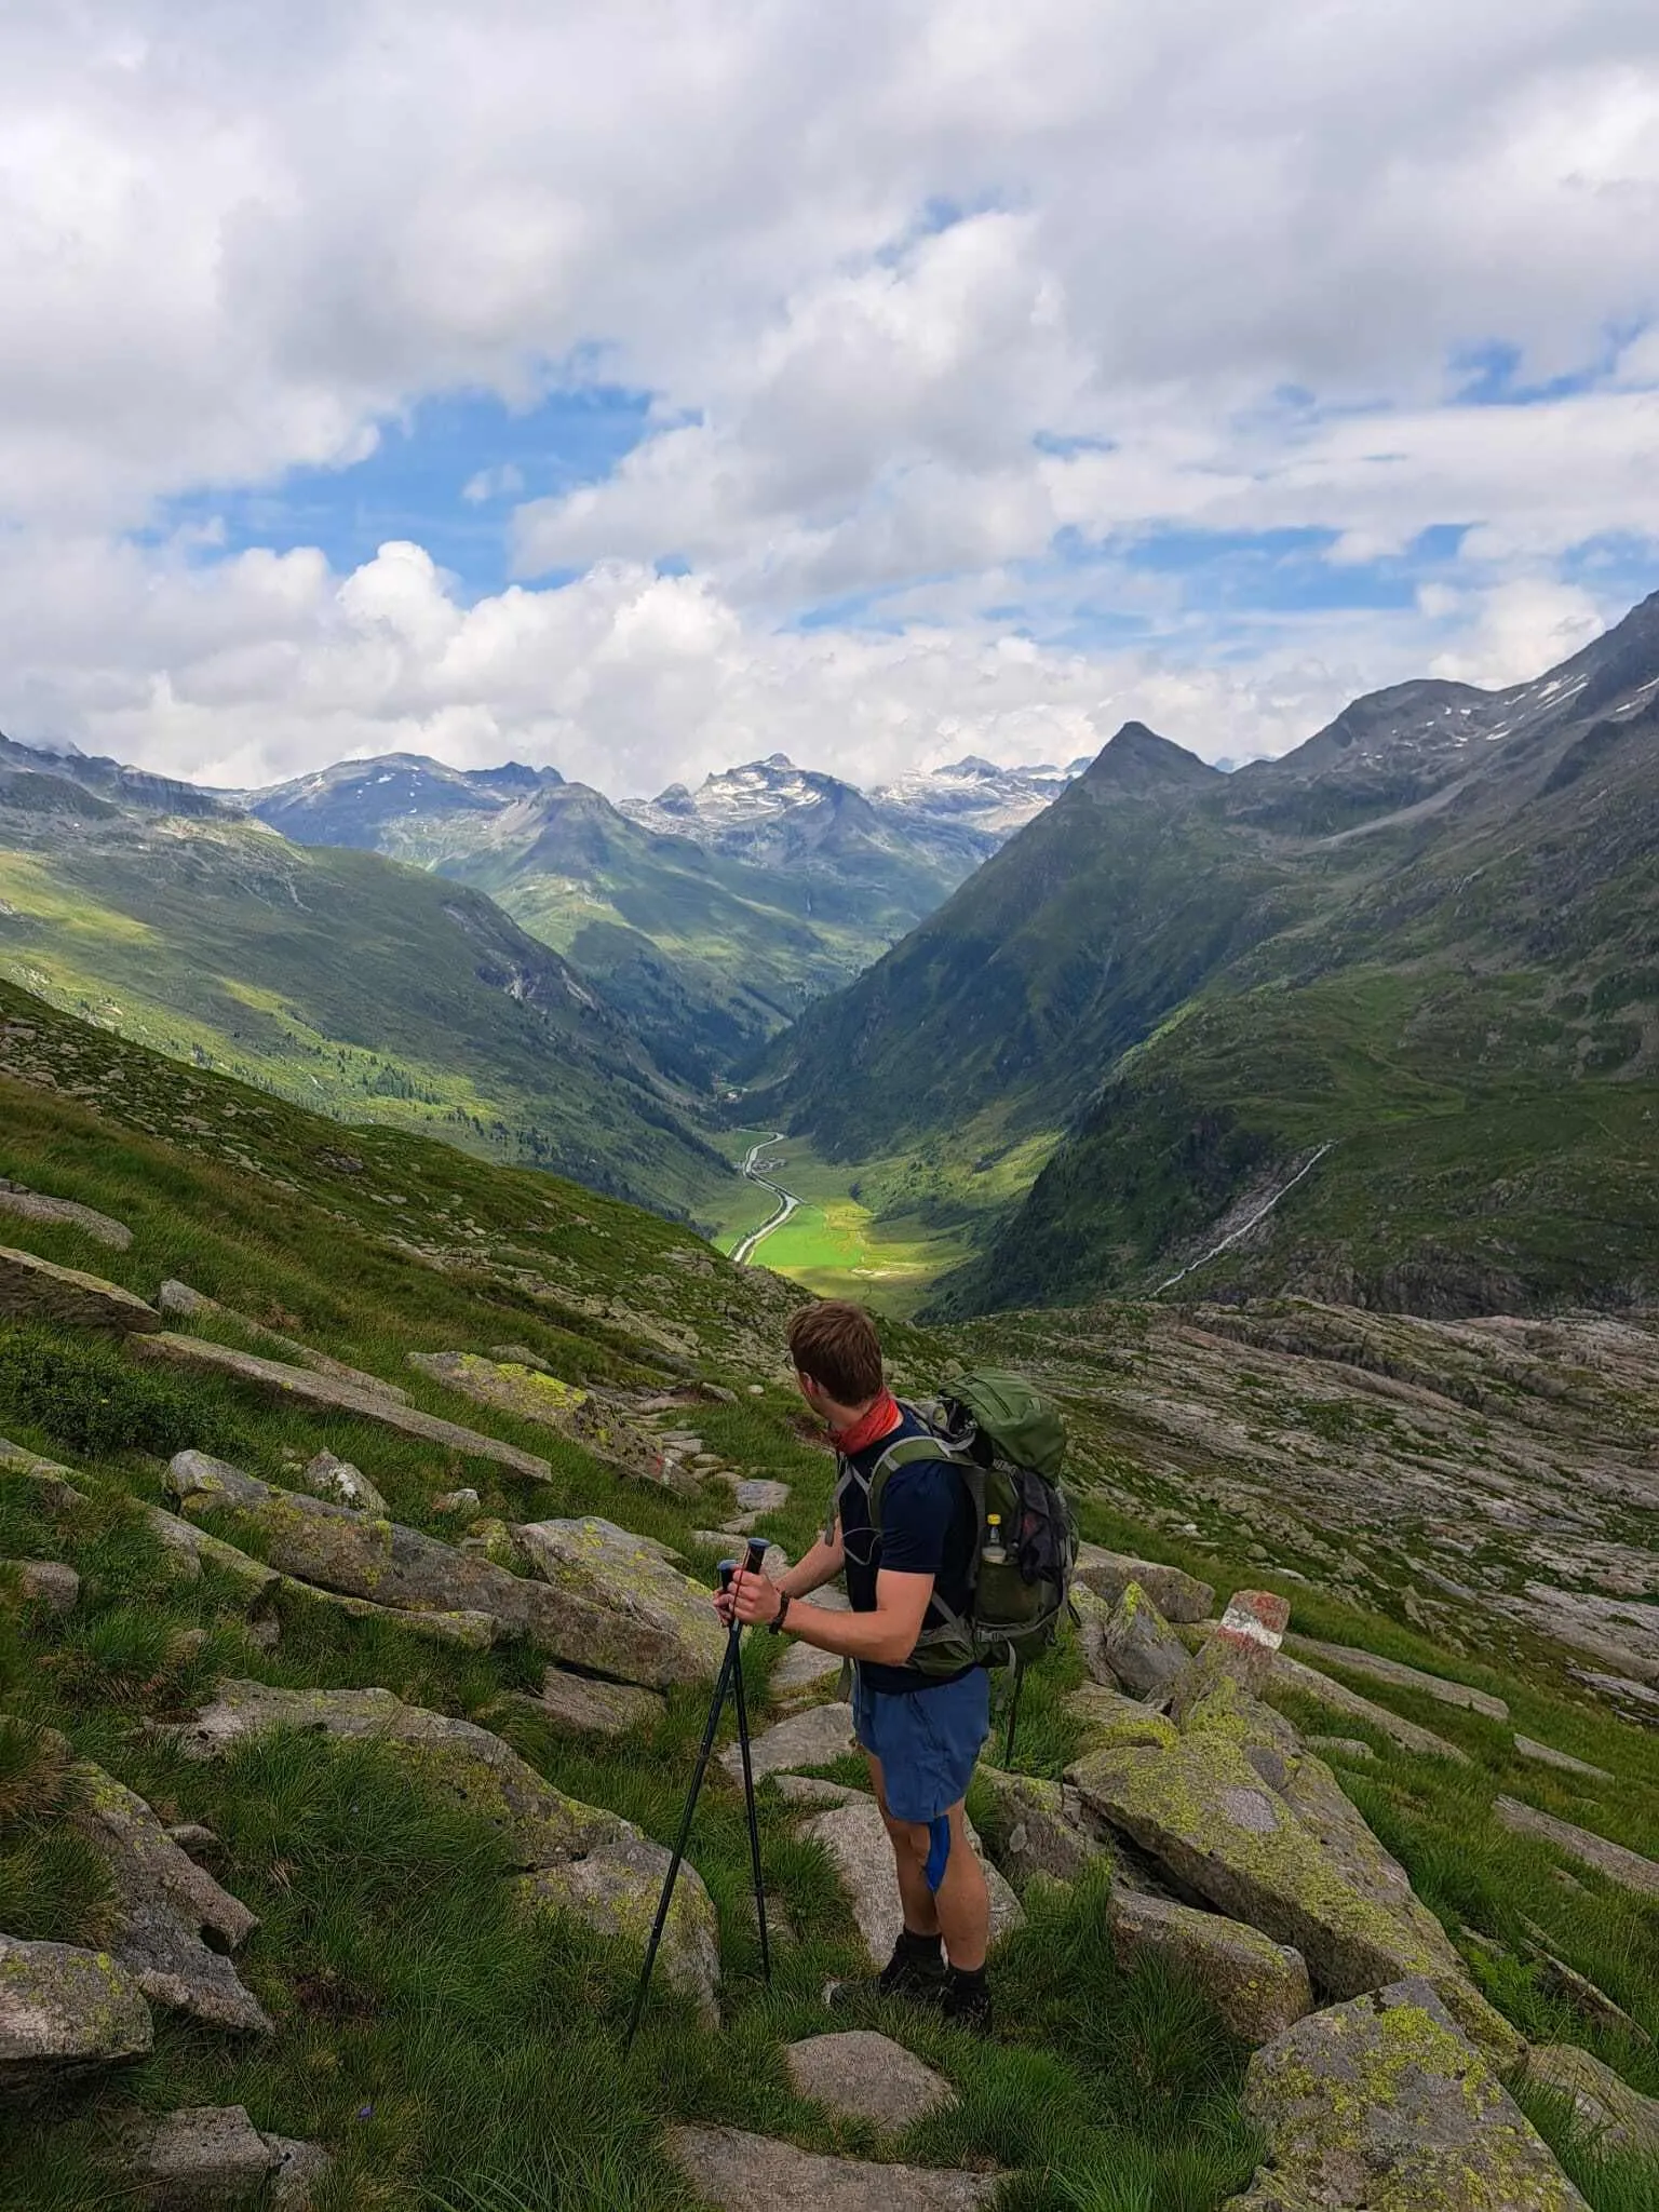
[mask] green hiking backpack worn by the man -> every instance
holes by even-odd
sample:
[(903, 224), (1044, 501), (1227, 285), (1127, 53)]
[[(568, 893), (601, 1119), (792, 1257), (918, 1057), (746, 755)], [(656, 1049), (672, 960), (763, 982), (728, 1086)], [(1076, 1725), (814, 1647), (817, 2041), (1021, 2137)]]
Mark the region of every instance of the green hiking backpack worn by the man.
[[(869, 1526), (880, 1535), (880, 1495), (898, 1467), (945, 1460), (967, 1484), (980, 1531), (967, 1610), (953, 1613), (933, 1597), (909, 1666), (922, 1674), (1011, 1666), (1018, 1701), (1024, 1668), (1053, 1644), (1071, 1610), (1077, 1522), (1060, 1489), (1066, 1422), (1024, 1376), (991, 1367), (958, 1376), (936, 1411), (916, 1405), (905, 1411), (927, 1436), (900, 1438), (872, 1467)], [(865, 1478), (843, 1460), (836, 1513), (847, 1484), (865, 1486)]]

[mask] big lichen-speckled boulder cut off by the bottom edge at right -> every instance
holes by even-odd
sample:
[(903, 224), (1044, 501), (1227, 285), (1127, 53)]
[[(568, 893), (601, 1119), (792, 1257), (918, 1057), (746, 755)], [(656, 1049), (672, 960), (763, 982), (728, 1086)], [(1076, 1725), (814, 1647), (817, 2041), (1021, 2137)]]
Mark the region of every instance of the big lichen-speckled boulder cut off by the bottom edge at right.
[(1436, 1991), (1312, 2013), (1250, 2062), (1267, 2166), (1228, 2212), (1586, 2212)]

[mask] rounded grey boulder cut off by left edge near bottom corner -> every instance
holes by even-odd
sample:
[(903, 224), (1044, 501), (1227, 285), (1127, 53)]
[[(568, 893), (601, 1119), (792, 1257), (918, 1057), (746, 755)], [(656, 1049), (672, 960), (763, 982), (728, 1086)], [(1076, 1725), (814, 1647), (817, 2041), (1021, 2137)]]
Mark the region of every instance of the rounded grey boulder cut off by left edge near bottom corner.
[(0, 2097), (142, 2057), (153, 2042), (144, 1991), (108, 1953), (0, 1936)]

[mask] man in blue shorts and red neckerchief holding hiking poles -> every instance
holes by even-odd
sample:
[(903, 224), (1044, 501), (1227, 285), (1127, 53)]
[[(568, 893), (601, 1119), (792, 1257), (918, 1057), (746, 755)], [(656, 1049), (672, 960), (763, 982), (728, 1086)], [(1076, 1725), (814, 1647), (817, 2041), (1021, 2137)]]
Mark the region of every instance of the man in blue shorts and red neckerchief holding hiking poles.
[[(876, 1535), (869, 1478), (900, 1438), (927, 1431), (887, 1389), (880, 1340), (860, 1307), (832, 1301), (796, 1314), (790, 1356), (801, 1396), (836, 1444), (836, 1517), (830, 1537), (781, 1582), (739, 1573), (721, 1613), (854, 1661), (854, 1732), (905, 1907), (905, 1931), (876, 1986), (936, 2002), (949, 2020), (987, 2033), (991, 1898), (967, 1843), (962, 1798), (989, 1732), (991, 1686), (978, 1666), (949, 1677), (909, 1666), (918, 1635), (940, 1617), (936, 1597), (967, 1610), (980, 1542), (973, 1500), (945, 1460), (896, 1467)], [(852, 1610), (810, 1604), (810, 1593), (843, 1568)]]

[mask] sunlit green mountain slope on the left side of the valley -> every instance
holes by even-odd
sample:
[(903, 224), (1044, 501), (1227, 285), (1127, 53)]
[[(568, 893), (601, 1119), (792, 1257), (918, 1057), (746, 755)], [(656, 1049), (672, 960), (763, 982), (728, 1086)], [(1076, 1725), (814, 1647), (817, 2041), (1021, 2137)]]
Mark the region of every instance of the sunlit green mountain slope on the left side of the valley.
[(728, 1181), (622, 1013), (480, 891), (49, 765), (0, 754), (0, 973), (330, 1113), (670, 1212)]

